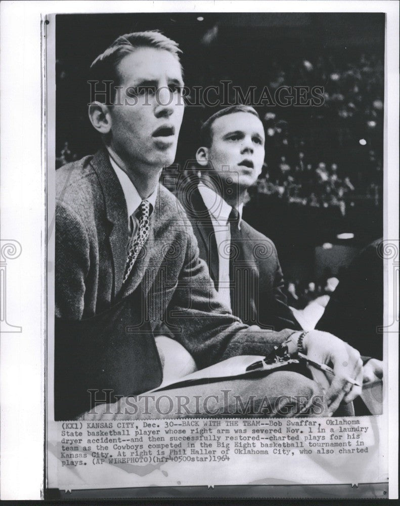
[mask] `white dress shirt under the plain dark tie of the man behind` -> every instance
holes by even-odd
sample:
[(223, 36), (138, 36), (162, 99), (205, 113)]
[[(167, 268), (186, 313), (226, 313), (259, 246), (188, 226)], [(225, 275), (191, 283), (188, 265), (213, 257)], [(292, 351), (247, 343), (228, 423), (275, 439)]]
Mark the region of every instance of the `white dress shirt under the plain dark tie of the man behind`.
[[(220, 195), (215, 193), (214, 190), (199, 183), (198, 185), (200, 195), (204, 201), (205, 206), (210, 213), (212, 226), (215, 233), (216, 247), (218, 251), (218, 293), (224, 300), (225, 304), (231, 308), (231, 294), (230, 294), (230, 279), (229, 279), (229, 258), (226, 254), (227, 245), (231, 243), (231, 229), (228, 222), (229, 215), (232, 211), (232, 206), (229, 205)], [(238, 207), (239, 224), (242, 221), (243, 204)], [(225, 250), (225, 254), (224, 254)]]

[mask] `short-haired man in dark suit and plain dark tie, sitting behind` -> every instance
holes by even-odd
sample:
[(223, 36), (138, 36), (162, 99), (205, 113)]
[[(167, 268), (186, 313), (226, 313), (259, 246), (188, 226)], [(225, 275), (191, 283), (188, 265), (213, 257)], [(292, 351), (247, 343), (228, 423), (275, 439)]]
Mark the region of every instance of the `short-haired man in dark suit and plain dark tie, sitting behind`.
[(216, 112), (202, 125), (200, 143), (200, 177), (178, 196), (215, 289), (247, 325), (301, 329), (286, 304), (274, 243), (242, 219), (265, 154), (257, 112), (245, 105)]

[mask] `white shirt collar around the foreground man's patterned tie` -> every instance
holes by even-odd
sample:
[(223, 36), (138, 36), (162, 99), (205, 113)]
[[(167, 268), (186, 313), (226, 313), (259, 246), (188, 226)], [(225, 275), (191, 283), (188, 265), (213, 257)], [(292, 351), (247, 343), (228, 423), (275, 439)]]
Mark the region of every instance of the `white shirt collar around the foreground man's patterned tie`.
[[(139, 219), (136, 216), (139, 206), (142, 203), (142, 198), (135, 188), (135, 185), (130, 181), (127, 174), (117, 165), (117, 163), (109, 156), (112, 168), (117, 175), (119, 183), (122, 187), (122, 191), (126, 201), (126, 208), (128, 210), (128, 242), (129, 244), (135, 239), (138, 233)], [(157, 187), (154, 192), (146, 200), (150, 202), (150, 216), (153, 213), (154, 206), (157, 198)]]

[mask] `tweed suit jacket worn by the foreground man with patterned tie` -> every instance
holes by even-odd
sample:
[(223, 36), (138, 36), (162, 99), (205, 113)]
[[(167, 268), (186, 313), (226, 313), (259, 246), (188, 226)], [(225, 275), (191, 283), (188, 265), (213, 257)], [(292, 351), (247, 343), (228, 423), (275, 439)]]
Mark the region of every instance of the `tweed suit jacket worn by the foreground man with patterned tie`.
[(108, 159), (94, 156), (56, 173), (56, 316), (82, 320), (107, 311), (140, 288), (155, 334), (180, 342), (205, 367), (243, 354), (268, 354), (293, 332), (248, 327), (218, 299), (199, 259), (193, 229), (177, 199), (162, 185), (150, 234), (126, 283), (126, 202)]

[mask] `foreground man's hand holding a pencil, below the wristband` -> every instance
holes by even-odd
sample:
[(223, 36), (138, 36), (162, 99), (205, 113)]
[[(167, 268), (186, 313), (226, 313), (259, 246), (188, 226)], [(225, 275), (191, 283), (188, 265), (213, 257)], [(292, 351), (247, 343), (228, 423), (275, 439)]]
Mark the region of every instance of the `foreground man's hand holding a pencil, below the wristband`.
[(362, 385), (363, 361), (357, 350), (334, 335), (319, 330), (312, 330), (305, 335), (303, 348), (310, 360), (331, 363), (333, 366), (334, 375), (309, 366), (315, 381), (326, 388), (325, 400), (331, 413), (342, 401), (348, 403), (361, 395), (361, 386), (346, 381), (346, 378), (351, 378)]

